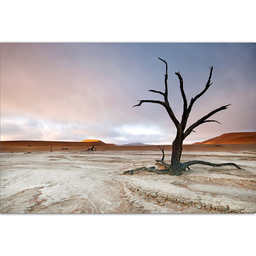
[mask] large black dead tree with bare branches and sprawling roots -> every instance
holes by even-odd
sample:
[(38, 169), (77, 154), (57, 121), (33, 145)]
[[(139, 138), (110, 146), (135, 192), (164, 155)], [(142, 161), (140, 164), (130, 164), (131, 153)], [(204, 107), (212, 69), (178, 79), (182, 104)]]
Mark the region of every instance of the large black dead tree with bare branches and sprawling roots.
[[(160, 104), (162, 105), (165, 110), (167, 111), (168, 115), (170, 116), (172, 122), (174, 123), (176, 129), (177, 129), (177, 133), (176, 133), (176, 137), (174, 139), (174, 141), (172, 142), (172, 158), (171, 158), (171, 164), (167, 164), (164, 162), (164, 148), (160, 149), (162, 150), (163, 153), (163, 157), (161, 160), (156, 160), (157, 163), (162, 164), (165, 166), (165, 170), (157, 170), (155, 167), (155, 169), (153, 167), (150, 167), (149, 169), (146, 167), (141, 167), (136, 169), (137, 171), (140, 170), (145, 170), (148, 169), (150, 172), (158, 172), (158, 173), (169, 173), (170, 175), (176, 175), (179, 176), (181, 174), (182, 171), (185, 171), (186, 168), (189, 169), (190, 165), (193, 164), (206, 164), (206, 165), (210, 165), (210, 166), (223, 166), (223, 165), (233, 165), (238, 169), (242, 169), (240, 168), (238, 165), (234, 164), (234, 163), (224, 163), (224, 164), (212, 164), (209, 162), (204, 162), (204, 161), (189, 161), (189, 162), (185, 162), (185, 163), (180, 163), (180, 157), (181, 157), (181, 153), (182, 153), (182, 143), (183, 140), (191, 133), (191, 132), (195, 132), (194, 129), (204, 123), (208, 123), (208, 122), (216, 122), (218, 124), (220, 124), (218, 121), (216, 120), (209, 120), (208, 118), (210, 118), (212, 115), (214, 115), (217, 112), (220, 112), (221, 110), (227, 109), (229, 105), (225, 105), (222, 106), (220, 108), (216, 108), (213, 111), (211, 111), (209, 114), (203, 116), (202, 118), (200, 118), (199, 120), (197, 120), (194, 124), (190, 125), (187, 129), (186, 129), (186, 125), (187, 125), (187, 121), (188, 121), (188, 117), (189, 114), (191, 112), (191, 109), (193, 107), (193, 104), (195, 103), (195, 101), (200, 98), (211, 86), (211, 78), (212, 78), (212, 70), (213, 67), (209, 67), (210, 68), (210, 75), (208, 78), (208, 81), (205, 85), (205, 88), (202, 92), (200, 92), (199, 94), (197, 94), (194, 98), (192, 98), (190, 100), (190, 103), (188, 104), (187, 102), (187, 98), (186, 98), (186, 94), (184, 92), (183, 89), (183, 79), (182, 76), (180, 75), (180, 71), (179, 72), (175, 72), (175, 75), (178, 76), (179, 78), (179, 82), (180, 82), (180, 92), (181, 92), (181, 96), (183, 99), (183, 114), (181, 117), (181, 121), (179, 122), (178, 119), (176, 118), (176, 116), (174, 115), (172, 108), (170, 106), (170, 103), (168, 101), (168, 85), (167, 85), (167, 79), (168, 79), (168, 73), (167, 73), (167, 62), (163, 59), (158, 58), (159, 60), (162, 60), (165, 63), (165, 75), (164, 75), (164, 85), (165, 85), (165, 91), (164, 92), (160, 92), (160, 91), (155, 91), (155, 90), (149, 90), (149, 92), (155, 92), (155, 93), (159, 93), (161, 95), (163, 95), (164, 100), (160, 101), (160, 100), (139, 100), (140, 103), (133, 106), (133, 107), (139, 107), (142, 103), (144, 102), (149, 102), (149, 103), (156, 103), (156, 104)], [(133, 172), (136, 170), (132, 170)], [(129, 172), (129, 171), (126, 171)], [(132, 174), (132, 173), (131, 173)]]

